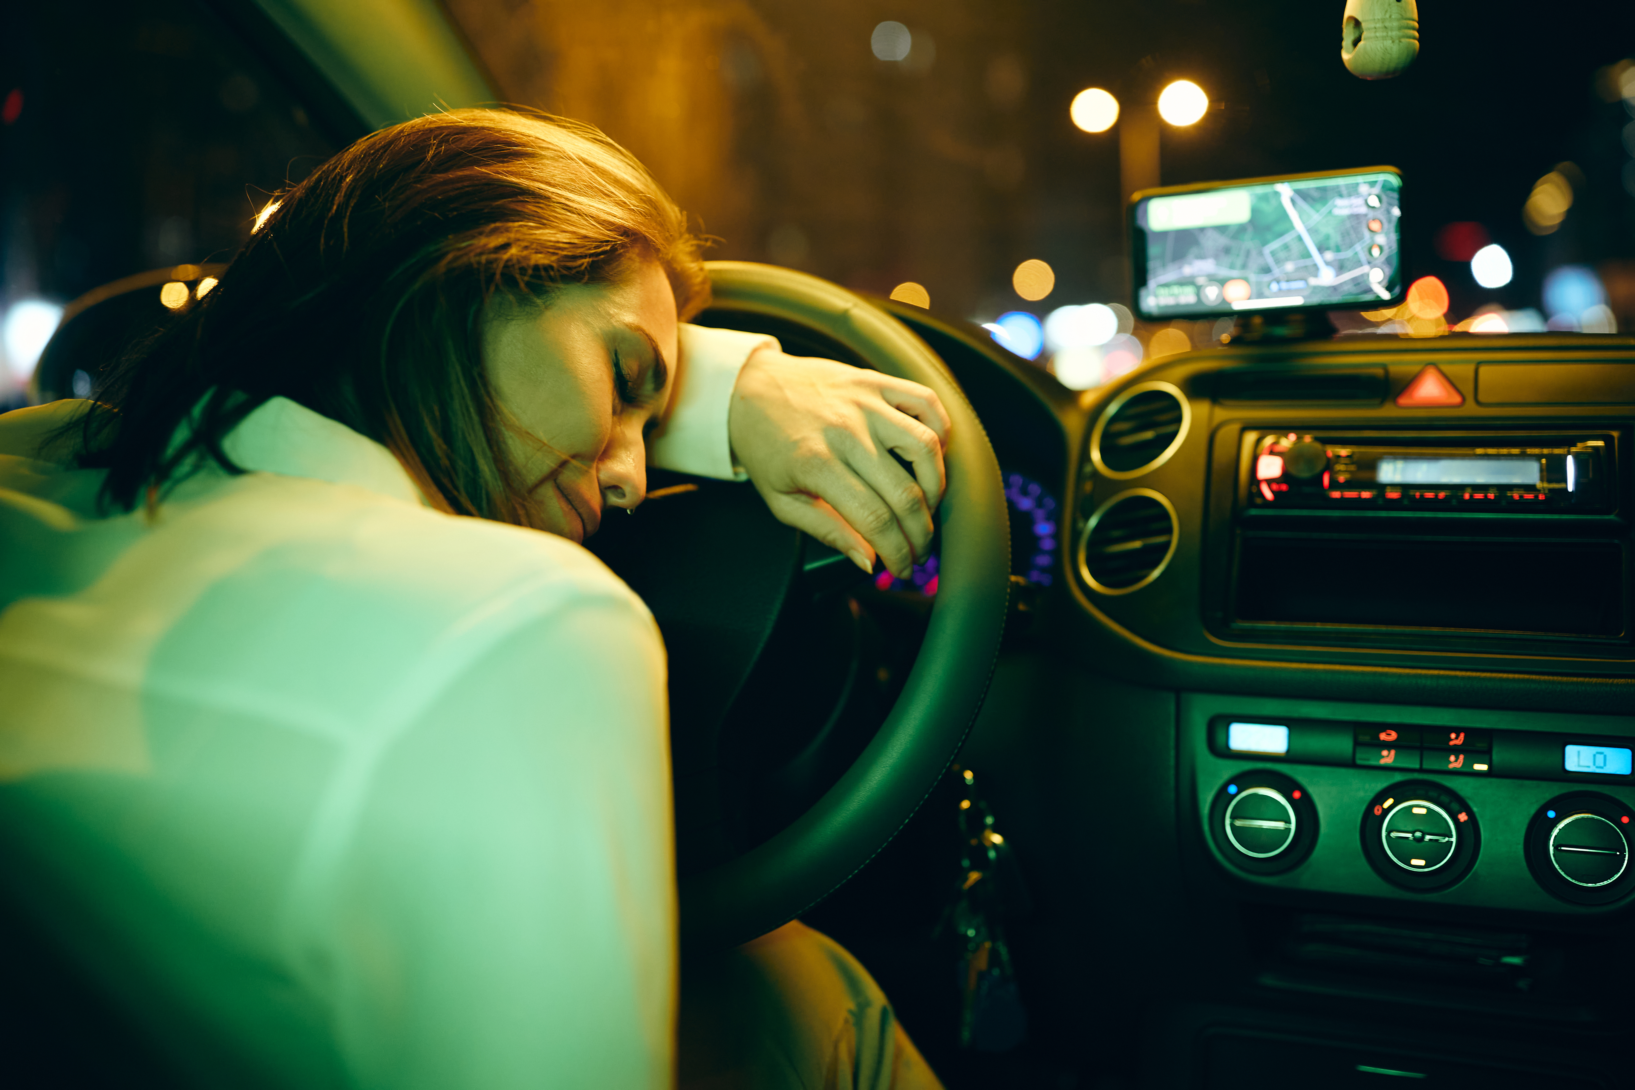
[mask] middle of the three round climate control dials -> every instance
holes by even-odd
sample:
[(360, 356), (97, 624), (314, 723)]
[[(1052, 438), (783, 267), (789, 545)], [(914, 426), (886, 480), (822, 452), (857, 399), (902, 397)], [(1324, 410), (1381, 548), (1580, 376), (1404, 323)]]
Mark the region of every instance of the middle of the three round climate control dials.
[(1403, 889), (1447, 889), (1465, 878), (1478, 848), (1475, 811), (1439, 783), (1395, 783), (1362, 814), (1362, 853), (1380, 878)]

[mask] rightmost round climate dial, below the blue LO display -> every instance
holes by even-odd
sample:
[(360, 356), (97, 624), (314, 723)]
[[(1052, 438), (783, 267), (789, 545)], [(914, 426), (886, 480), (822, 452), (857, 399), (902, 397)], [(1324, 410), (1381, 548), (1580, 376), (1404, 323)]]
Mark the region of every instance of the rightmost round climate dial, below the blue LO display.
[(1540, 886), (1583, 905), (1624, 897), (1630, 874), (1632, 807), (1592, 791), (1545, 802), (1527, 825), (1527, 866)]

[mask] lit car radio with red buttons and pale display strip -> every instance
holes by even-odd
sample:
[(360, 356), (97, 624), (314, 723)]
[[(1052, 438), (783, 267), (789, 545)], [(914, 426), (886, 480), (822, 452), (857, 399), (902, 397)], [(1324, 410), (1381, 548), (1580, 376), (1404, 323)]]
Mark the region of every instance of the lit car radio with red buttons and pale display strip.
[(1610, 433), (1244, 431), (1249, 508), (1601, 513)]

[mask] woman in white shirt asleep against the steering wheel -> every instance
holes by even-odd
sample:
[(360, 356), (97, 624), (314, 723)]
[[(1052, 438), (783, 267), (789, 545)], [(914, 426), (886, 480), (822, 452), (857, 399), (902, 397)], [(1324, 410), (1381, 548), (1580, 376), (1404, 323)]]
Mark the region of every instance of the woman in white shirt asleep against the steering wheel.
[[(706, 297), (621, 149), (453, 111), (288, 193), (100, 404), (0, 418), (0, 881), (193, 1080), (674, 1080), (664, 650), (576, 543), (651, 456), (906, 574), (947, 438)], [(935, 1085), (827, 940), (736, 958), (718, 1010), (806, 1007), (688, 1015), (683, 1085)]]

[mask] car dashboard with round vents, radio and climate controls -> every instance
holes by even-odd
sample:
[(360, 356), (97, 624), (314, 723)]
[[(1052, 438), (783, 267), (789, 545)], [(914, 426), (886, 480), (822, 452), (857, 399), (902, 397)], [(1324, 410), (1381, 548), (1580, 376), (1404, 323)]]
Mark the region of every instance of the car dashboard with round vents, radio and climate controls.
[(1074, 399), (898, 312), (1061, 489), (963, 757), (1061, 1033), (1143, 1039), (1140, 1085), (1620, 1085), (1635, 340), (1233, 343)]

